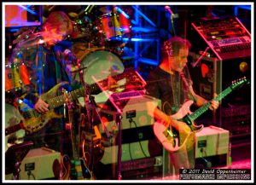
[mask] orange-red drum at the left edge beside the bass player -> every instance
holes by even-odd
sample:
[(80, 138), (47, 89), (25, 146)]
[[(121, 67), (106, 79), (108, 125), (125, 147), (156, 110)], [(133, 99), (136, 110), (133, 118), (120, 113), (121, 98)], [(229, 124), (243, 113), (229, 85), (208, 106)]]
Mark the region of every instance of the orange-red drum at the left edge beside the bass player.
[(26, 84), (30, 84), (30, 80), (25, 64), (5, 66), (5, 91), (20, 90)]

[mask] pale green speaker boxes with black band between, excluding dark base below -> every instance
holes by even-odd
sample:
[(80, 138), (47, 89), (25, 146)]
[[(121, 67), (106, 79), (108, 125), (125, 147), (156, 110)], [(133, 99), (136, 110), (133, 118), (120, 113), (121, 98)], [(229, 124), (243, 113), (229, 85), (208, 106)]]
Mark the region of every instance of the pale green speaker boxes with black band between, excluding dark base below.
[[(152, 113), (155, 107), (160, 107), (160, 100), (148, 95), (131, 98), (126, 103), (123, 112), (120, 113), (122, 161), (154, 157), (160, 154), (154, 152), (154, 150), (150, 151), (154, 144), (157, 145), (152, 127), (154, 124)], [(102, 136), (106, 138), (105, 141), (109, 141), (109, 147), (105, 147), (102, 163), (105, 165), (116, 163), (119, 128), (116, 119), (119, 113), (110, 110), (101, 110), (100, 113), (102, 118), (108, 119), (108, 121), (103, 122), (105, 128), (100, 124), (99, 130)], [(107, 137), (106, 131), (111, 133), (110, 139)], [(157, 151), (157, 147), (154, 147), (154, 149)]]

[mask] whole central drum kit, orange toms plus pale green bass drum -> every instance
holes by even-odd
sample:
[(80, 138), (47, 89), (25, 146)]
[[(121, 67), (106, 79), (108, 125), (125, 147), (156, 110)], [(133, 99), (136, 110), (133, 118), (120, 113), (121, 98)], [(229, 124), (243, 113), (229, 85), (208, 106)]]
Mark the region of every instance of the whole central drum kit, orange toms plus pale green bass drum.
[[(96, 9), (98, 7), (98, 9)], [(124, 38), (131, 38), (131, 8), (94, 6), (96, 11), (84, 11), (82, 18), (73, 20), (72, 52), (84, 72), (84, 82), (96, 83), (108, 76), (124, 72), (124, 61), (134, 58)], [(93, 12), (93, 13), (92, 13)], [(76, 16), (78, 17), (78, 16)], [(75, 77), (78, 79), (78, 75)]]

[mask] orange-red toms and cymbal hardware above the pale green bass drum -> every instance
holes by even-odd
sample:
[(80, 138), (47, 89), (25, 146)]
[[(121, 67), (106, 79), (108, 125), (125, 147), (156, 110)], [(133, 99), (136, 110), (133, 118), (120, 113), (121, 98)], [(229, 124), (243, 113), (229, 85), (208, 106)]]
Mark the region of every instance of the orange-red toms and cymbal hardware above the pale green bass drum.
[[(95, 8), (96, 9), (96, 8)], [(78, 20), (73, 20), (73, 52), (79, 57), (78, 45), (84, 43), (84, 51), (91, 48), (105, 49), (122, 58), (125, 55), (125, 41), (131, 38), (131, 19), (125, 11), (118, 7), (104, 6), (97, 9), (101, 14), (88, 14)], [(119, 10), (119, 11), (118, 11)], [(129, 10), (127, 10), (129, 12)], [(131, 55), (131, 54), (130, 54)], [(80, 61), (83, 60), (83, 55)]]

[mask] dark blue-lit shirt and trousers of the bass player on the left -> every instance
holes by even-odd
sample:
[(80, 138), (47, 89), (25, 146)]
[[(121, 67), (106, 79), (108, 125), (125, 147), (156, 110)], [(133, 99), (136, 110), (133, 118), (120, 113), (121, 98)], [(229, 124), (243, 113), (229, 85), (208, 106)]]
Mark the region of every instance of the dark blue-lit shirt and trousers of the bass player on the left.
[[(20, 63), (26, 65), (30, 83), (22, 86), (22, 94), (24, 96), (20, 97), (20, 100), (31, 108), (38, 101), (39, 96), (48, 93), (56, 84), (67, 82), (66, 85), (63, 85), (63, 88), (68, 91), (80, 87), (80, 84), (76, 82), (71, 85), (71, 74), (68, 72), (66, 61), (64, 60), (63, 51), (67, 48), (70, 49), (71, 42), (63, 41), (64, 44), (61, 42), (47, 49), (44, 44), (39, 42), (40, 39), (38, 37), (21, 41), (15, 47), (11, 57), (11, 61), (15, 62), (16, 65), (19, 66)], [(56, 95), (50, 93), (48, 97), (44, 96), (44, 101), (60, 94), (61, 90), (57, 90)], [(21, 112), (24, 111), (26, 113), (26, 109), (20, 109)], [(63, 105), (55, 107), (55, 113), (62, 115), (63, 118)], [(41, 120), (38, 118), (39, 115), (33, 116), (33, 121), (39, 122)], [(42, 116), (41, 118), (44, 117)], [(44, 128), (36, 133), (26, 134), (25, 140), (34, 142), (33, 147), (42, 147), (47, 143), (50, 148), (62, 151), (61, 133), (65, 129), (66, 120), (52, 119), (50, 113), (45, 118), (50, 120), (44, 125)], [(30, 119), (30, 117), (26, 119)]]

